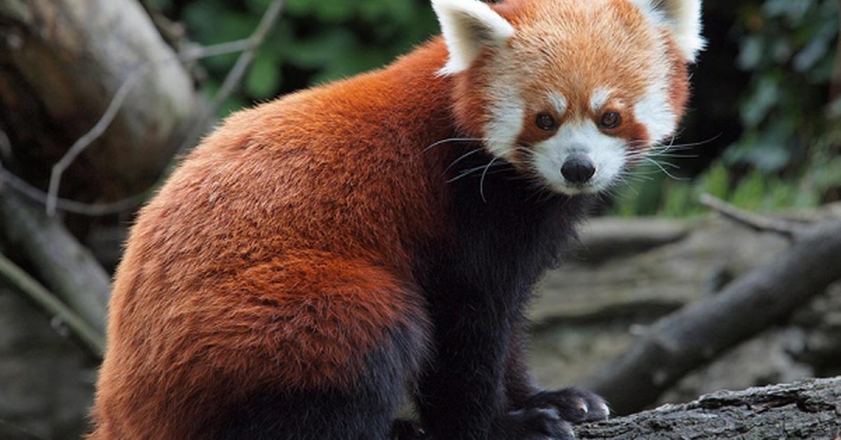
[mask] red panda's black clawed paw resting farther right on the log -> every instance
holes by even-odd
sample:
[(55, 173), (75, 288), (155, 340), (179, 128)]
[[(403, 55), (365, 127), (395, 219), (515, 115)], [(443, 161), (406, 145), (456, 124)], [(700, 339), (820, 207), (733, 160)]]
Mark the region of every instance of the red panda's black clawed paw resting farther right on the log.
[(561, 418), (571, 423), (602, 421), (611, 415), (607, 402), (599, 395), (577, 388), (556, 391), (541, 391), (532, 395), (523, 408), (553, 408)]

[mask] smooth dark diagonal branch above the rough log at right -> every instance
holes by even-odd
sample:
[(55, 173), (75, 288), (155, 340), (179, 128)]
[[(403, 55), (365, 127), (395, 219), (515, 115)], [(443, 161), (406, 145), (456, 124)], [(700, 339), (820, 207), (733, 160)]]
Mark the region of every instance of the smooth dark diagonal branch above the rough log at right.
[(652, 404), (677, 380), (729, 347), (782, 321), (841, 279), (841, 221), (817, 226), (774, 261), (738, 278), (710, 300), (659, 321), (590, 379), (621, 414)]

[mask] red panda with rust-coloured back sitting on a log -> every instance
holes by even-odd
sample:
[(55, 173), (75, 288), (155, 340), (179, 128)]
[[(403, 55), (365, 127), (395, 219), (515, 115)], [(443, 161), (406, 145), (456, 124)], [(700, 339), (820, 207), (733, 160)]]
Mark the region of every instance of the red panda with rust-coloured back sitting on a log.
[(572, 437), (522, 358), (592, 194), (684, 113), (701, 0), (432, 0), (391, 66), (233, 114), (140, 212), (92, 439)]

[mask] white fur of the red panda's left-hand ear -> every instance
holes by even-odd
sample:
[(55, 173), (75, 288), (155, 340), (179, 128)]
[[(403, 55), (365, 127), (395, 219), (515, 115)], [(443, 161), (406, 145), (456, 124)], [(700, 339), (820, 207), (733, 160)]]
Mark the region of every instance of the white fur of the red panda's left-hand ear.
[(466, 70), (487, 45), (501, 45), (514, 35), (514, 26), (479, 0), (432, 0), (450, 51), (442, 75)]

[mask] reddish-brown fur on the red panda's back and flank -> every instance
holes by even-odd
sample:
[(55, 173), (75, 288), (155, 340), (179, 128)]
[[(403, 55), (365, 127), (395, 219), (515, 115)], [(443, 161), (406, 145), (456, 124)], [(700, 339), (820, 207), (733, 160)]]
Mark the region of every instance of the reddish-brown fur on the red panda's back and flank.
[(344, 386), (384, 329), (422, 324), (419, 300), (402, 297), (402, 250), (442, 233), (429, 174), (443, 176), (442, 150), (394, 149), (383, 125), (416, 127), (415, 146), (452, 134), (434, 75), (446, 55), (438, 40), (387, 71), (234, 114), (193, 151), (127, 243), (91, 438), (194, 437), (203, 400)]

